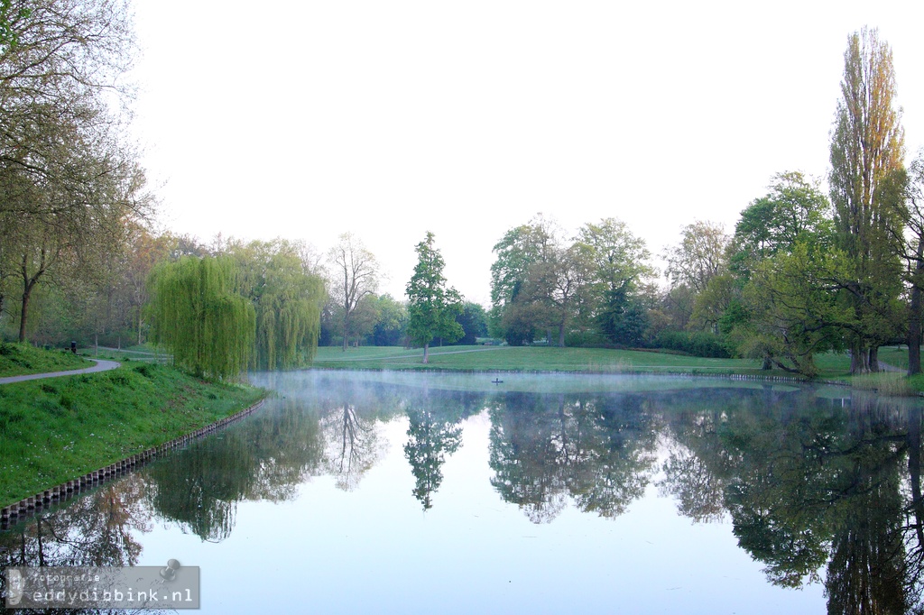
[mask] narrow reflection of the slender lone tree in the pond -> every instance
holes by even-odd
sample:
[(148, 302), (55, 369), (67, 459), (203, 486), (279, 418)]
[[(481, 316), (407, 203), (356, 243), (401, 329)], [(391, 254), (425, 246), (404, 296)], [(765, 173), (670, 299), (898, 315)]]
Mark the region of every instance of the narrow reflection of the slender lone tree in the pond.
[(417, 479), (414, 497), (424, 510), (432, 508), (432, 493), (443, 482), (445, 458), (462, 445), (459, 422), (480, 409), (482, 395), (445, 392), (432, 398), (426, 391), (407, 399), (407, 462)]

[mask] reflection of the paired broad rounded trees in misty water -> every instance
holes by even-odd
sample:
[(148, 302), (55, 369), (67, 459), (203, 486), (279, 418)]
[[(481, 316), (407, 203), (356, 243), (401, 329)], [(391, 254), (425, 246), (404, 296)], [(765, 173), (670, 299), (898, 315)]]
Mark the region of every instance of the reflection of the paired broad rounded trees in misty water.
[(491, 416), (492, 486), (533, 523), (552, 521), (569, 496), (617, 516), (650, 481), (656, 435), (637, 396), (509, 393)]

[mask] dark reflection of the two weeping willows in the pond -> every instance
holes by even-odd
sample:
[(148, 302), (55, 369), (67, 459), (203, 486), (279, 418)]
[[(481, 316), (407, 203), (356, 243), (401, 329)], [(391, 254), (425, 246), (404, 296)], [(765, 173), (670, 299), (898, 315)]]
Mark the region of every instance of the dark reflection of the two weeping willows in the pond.
[(239, 500), (288, 500), (321, 461), (318, 419), (292, 400), (273, 400), (245, 423), (153, 464), (152, 506), (203, 540), (223, 540)]

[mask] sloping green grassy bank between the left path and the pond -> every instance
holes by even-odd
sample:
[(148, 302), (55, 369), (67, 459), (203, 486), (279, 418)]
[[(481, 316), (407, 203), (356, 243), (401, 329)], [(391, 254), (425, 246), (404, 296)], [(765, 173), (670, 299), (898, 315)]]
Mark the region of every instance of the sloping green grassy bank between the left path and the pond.
[(264, 392), (151, 364), (0, 386), (0, 506), (213, 423)]

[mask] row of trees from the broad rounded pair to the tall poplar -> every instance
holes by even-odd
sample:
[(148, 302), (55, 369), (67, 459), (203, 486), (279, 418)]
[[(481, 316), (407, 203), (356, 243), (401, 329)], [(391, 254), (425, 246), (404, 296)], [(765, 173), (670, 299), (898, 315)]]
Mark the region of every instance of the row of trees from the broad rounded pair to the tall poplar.
[(492, 333), (509, 344), (717, 348), (805, 375), (828, 350), (848, 350), (853, 373), (878, 370), (879, 346), (906, 341), (918, 373), (924, 153), (904, 167), (894, 91), (889, 46), (876, 30), (851, 35), (828, 194), (782, 173), (733, 235), (687, 224), (663, 254), (663, 291), (644, 242), (617, 220), (585, 224), (566, 241), (541, 215), (511, 229), (494, 246)]

